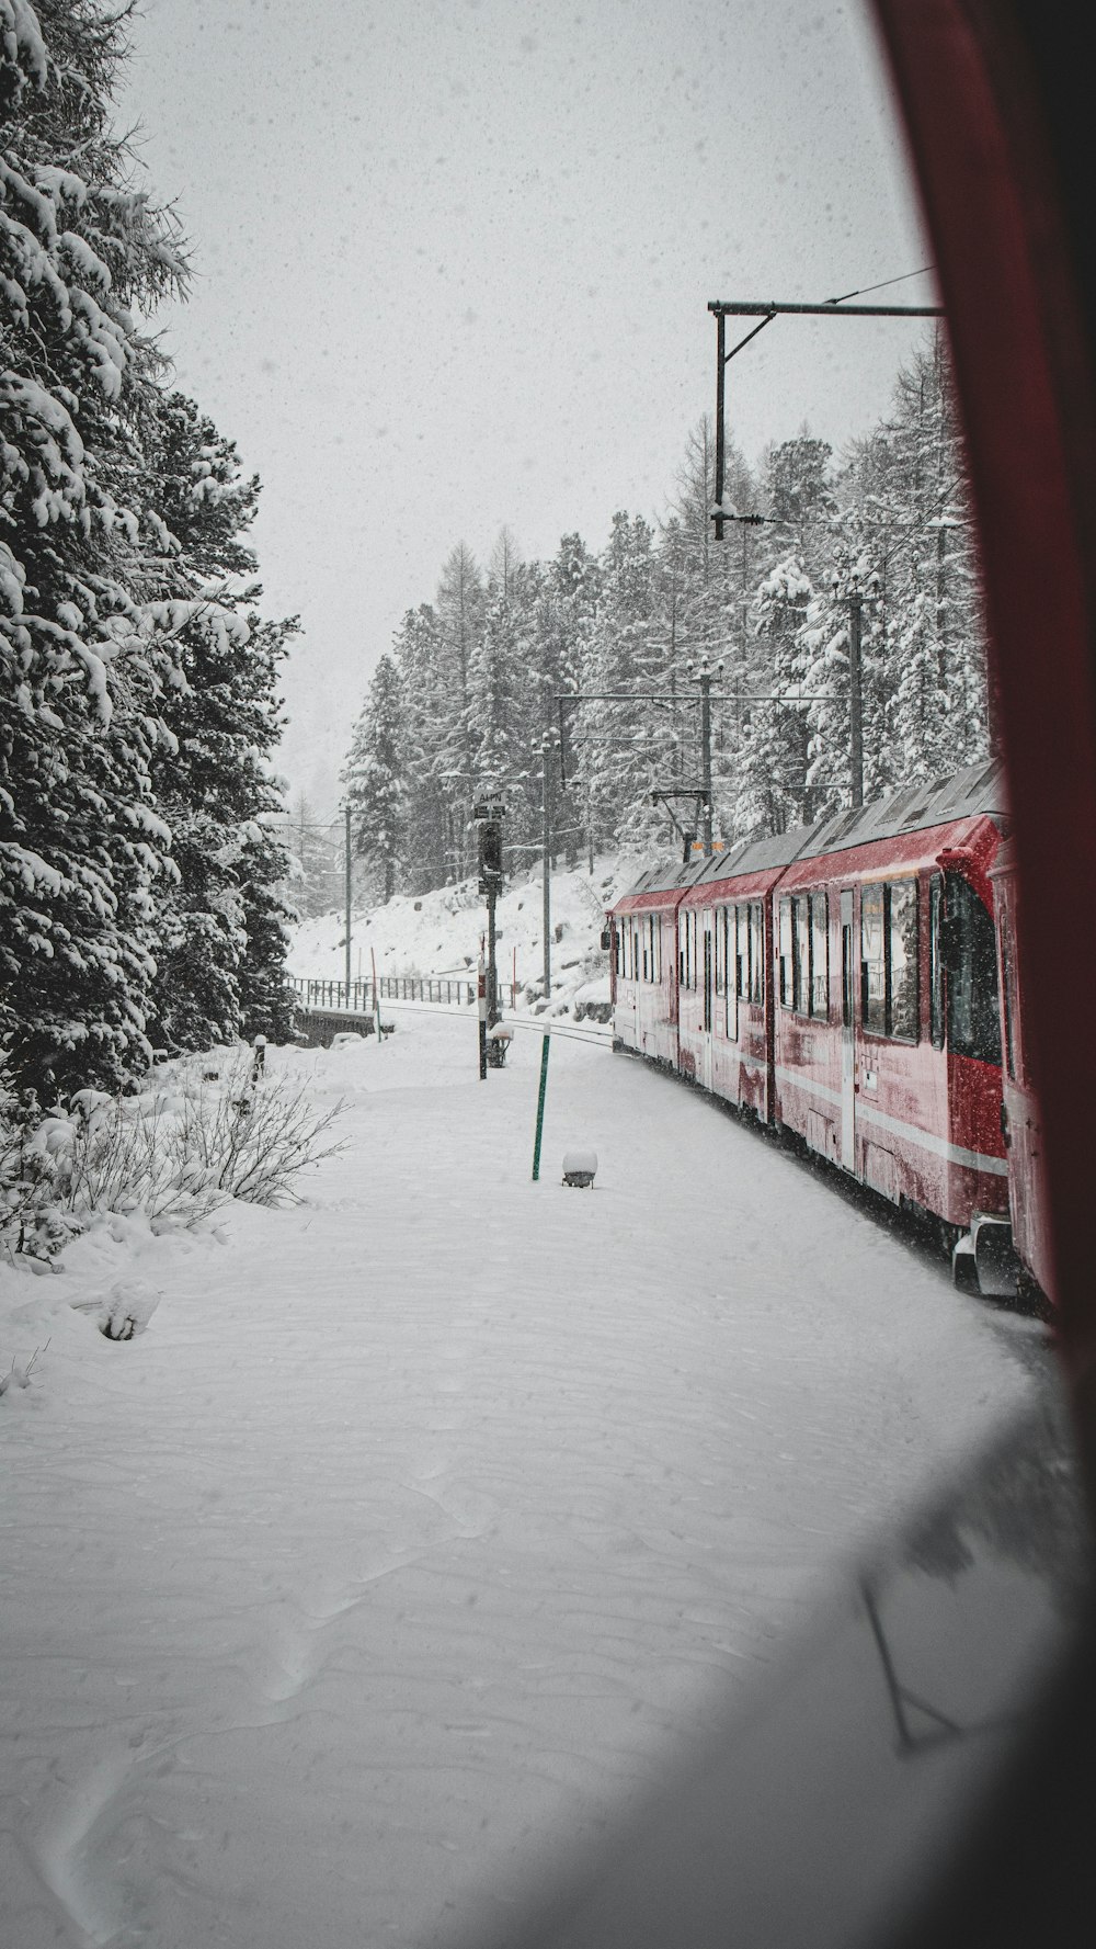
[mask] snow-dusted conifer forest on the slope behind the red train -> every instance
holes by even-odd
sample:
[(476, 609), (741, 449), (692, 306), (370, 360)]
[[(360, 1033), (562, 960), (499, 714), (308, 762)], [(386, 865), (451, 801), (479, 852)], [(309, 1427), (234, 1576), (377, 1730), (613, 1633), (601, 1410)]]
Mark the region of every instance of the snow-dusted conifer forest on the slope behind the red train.
[[(469, 807), (502, 791), (506, 838), (541, 821), (541, 737), (568, 707), (557, 824), (582, 852), (664, 850), (652, 787), (695, 782), (701, 659), (714, 706), (716, 830), (783, 832), (849, 803), (849, 596), (862, 602), (864, 795), (989, 748), (991, 711), (968, 489), (942, 341), (897, 374), (888, 417), (835, 454), (806, 429), (757, 468), (728, 456), (736, 515), (712, 534), (712, 437), (685, 446), (658, 524), (611, 516), (598, 550), (551, 561), (502, 536), (479, 565), (459, 542), (432, 602), (403, 618), (345, 764), (356, 844), (380, 897), (469, 871)], [(726, 501), (724, 501), (726, 505)], [(652, 702), (646, 702), (646, 694)], [(666, 702), (670, 700), (670, 702)]]

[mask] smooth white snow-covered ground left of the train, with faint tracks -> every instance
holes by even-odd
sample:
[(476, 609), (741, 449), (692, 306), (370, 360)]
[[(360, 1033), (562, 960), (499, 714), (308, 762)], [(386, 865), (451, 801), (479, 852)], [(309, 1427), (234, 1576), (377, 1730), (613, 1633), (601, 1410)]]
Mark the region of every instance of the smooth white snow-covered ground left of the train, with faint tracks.
[(304, 1204), (0, 1269), (4, 1366), (51, 1341), (0, 1395), (6, 1949), (498, 1918), (1045, 1358), (602, 1047), (553, 1041), (533, 1185), (539, 1037), (481, 1084), (473, 1021), (395, 1019), (271, 1052), (348, 1105)]

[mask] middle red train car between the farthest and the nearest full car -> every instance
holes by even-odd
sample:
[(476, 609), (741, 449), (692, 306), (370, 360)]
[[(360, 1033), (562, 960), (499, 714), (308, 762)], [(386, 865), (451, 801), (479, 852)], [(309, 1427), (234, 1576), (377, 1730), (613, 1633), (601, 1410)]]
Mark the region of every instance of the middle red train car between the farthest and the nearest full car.
[(773, 1121), (773, 887), (806, 834), (707, 860), (677, 906), (677, 1066), (761, 1123)]

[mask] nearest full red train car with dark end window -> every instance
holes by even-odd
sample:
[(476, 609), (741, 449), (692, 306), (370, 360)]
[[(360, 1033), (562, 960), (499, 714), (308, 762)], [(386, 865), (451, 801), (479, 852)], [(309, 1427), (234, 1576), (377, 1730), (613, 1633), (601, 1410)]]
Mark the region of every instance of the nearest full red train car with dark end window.
[(1008, 1216), (1003, 822), (997, 766), (969, 766), (818, 826), (775, 891), (775, 1121), (952, 1242)]

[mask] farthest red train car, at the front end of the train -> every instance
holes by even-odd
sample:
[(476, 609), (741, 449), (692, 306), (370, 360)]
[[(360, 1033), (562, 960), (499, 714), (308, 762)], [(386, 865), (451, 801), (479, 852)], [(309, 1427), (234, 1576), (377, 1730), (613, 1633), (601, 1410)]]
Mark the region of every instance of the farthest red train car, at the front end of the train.
[(677, 906), (709, 861), (660, 863), (609, 912), (613, 1049), (677, 1068)]

